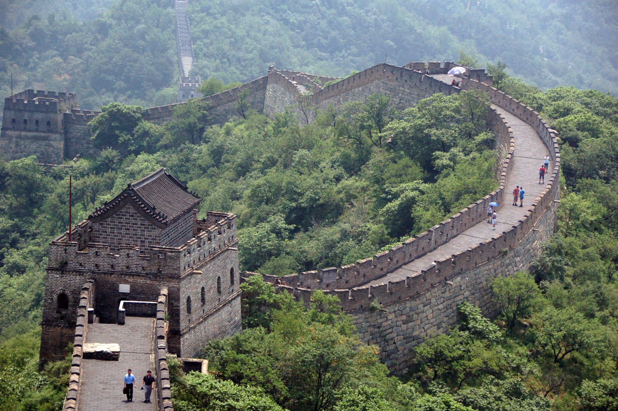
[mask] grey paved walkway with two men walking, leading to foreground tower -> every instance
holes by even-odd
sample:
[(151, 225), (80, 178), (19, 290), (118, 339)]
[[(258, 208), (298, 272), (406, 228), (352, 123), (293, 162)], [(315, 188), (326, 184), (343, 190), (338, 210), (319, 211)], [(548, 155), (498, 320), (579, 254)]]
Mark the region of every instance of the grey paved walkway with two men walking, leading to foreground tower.
[[(120, 345), (119, 361), (82, 360), (79, 411), (156, 411), (156, 389), (144, 404), (142, 378), (152, 369), (154, 318), (127, 317), (124, 325), (88, 324), (87, 342), (114, 342)], [(135, 374), (133, 402), (122, 394), (122, 378), (131, 368)]]

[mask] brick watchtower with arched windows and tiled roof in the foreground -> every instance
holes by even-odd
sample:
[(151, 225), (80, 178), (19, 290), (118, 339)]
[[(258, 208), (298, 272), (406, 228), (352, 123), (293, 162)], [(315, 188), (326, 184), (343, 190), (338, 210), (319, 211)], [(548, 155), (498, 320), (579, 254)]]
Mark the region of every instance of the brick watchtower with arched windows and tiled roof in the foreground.
[(122, 301), (124, 307), (156, 302), (167, 287), (167, 342), (174, 354), (190, 357), (209, 339), (240, 331), (236, 216), (209, 211), (197, 219), (199, 202), (162, 168), (72, 227), (70, 241), (69, 232), (53, 240), (41, 360), (66, 355), (87, 281), (95, 286), (89, 321), (101, 323), (124, 321)]

